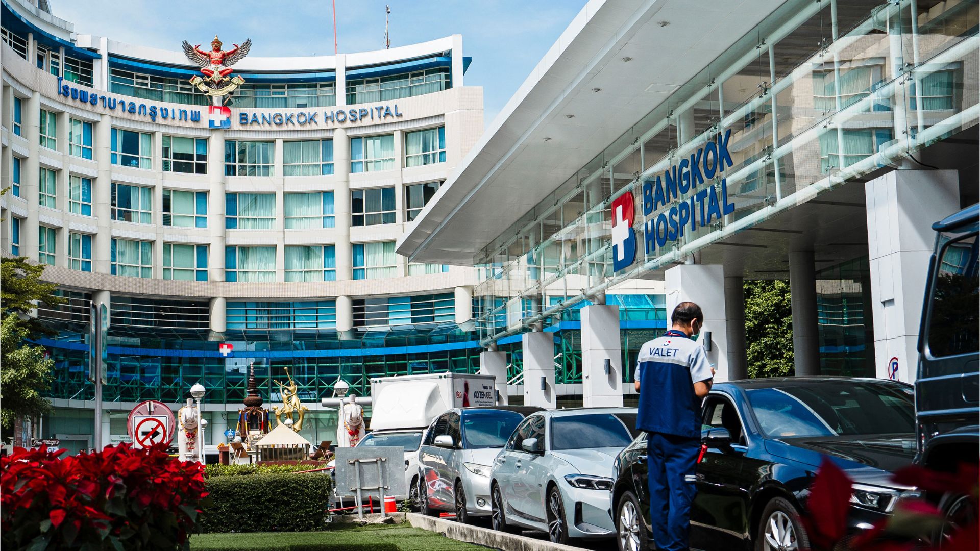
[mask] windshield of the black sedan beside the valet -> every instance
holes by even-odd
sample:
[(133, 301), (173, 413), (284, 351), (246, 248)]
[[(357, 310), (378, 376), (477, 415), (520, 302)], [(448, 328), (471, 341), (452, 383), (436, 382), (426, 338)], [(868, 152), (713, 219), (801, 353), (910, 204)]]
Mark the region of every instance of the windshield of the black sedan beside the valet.
[(915, 430), (912, 389), (894, 384), (801, 381), (746, 394), (762, 432), (775, 438)]

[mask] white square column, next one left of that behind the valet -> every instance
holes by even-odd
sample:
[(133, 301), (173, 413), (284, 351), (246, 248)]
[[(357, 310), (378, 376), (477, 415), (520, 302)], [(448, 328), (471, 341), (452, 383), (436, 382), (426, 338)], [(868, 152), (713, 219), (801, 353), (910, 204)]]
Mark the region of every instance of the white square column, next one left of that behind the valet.
[[(606, 373), (607, 361), (609, 374)], [(582, 402), (586, 408), (622, 407), (618, 305), (582, 308)]]

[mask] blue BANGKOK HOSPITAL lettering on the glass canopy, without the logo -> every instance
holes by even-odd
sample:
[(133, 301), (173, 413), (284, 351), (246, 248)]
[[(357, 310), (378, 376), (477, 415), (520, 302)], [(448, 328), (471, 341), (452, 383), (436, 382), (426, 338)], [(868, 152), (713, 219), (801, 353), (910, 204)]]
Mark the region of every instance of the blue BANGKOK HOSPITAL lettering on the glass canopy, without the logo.
[[(664, 171), (663, 175), (643, 182), (643, 216), (650, 217), (659, 208), (673, 204), (656, 218), (645, 220), (644, 242), (647, 254), (662, 249), (668, 241), (684, 236), (686, 229), (711, 225), (712, 220), (735, 212), (735, 204), (728, 202), (728, 184), (720, 177), (725, 168), (733, 166), (728, 153), (731, 130), (718, 134), (716, 141), (709, 141)], [(697, 190), (705, 181), (715, 181)], [(688, 193), (690, 197), (683, 198)]]

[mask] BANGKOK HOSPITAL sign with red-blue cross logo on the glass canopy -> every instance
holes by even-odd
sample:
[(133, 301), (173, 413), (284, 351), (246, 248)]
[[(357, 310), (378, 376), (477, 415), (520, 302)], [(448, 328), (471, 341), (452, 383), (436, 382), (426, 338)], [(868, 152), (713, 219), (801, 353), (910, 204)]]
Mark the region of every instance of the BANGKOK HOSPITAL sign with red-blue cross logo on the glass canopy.
[[(723, 176), (725, 169), (733, 166), (728, 153), (730, 137), (731, 130), (725, 130), (690, 157), (644, 180), (642, 232), (647, 255), (662, 251), (668, 242), (684, 237), (688, 230), (711, 225), (711, 221), (720, 221), (721, 217), (735, 212), (735, 204), (728, 201), (728, 183)], [(669, 209), (665, 208), (667, 205)], [(627, 191), (616, 197), (610, 207), (613, 272), (618, 272), (636, 261), (633, 193)]]

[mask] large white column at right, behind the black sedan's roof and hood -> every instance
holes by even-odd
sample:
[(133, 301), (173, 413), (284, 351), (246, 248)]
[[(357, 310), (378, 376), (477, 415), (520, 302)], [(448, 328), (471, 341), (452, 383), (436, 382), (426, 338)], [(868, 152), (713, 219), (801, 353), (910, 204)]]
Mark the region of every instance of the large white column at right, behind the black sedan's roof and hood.
[(894, 378), (914, 382), (932, 224), (959, 209), (958, 175), (893, 171), (866, 182), (864, 193), (875, 374), (890, 377), (897, 362)]

